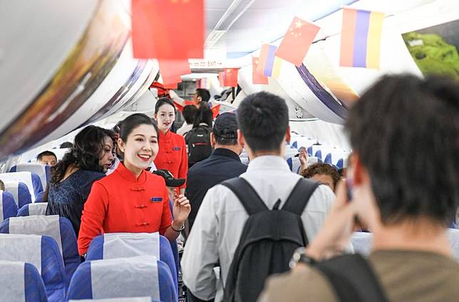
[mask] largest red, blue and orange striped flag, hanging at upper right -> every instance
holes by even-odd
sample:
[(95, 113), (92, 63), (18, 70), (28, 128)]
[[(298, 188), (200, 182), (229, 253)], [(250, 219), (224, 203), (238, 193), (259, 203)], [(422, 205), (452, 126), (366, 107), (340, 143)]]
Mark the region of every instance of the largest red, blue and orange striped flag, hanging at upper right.
[(343, 9), (340, 66), (379, 68), (384, 14)]

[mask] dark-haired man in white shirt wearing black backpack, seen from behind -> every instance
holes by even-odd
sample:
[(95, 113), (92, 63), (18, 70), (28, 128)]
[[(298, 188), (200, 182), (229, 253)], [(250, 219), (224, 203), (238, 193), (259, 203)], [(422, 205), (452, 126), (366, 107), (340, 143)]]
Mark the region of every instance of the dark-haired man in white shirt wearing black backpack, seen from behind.
[(294, 250), (314, 238), (334, 199), (329, 187), (289, 170), (282, 98), (247, 96), (237, 121), (239, 145), (250, 158), (247, 172), (208, 190), (182, 258), (185, 285), (204, 301), (222, 301), (224, 293), (225, 301), (254, 301), (264, 279), (287, 271)]

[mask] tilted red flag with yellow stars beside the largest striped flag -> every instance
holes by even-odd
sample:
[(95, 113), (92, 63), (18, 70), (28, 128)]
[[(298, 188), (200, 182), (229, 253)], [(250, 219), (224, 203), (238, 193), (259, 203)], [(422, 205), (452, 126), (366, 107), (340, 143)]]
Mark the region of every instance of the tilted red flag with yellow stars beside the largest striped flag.
[(319, 26), (294, 17), (277, 48), (276, 56), (300, 66), (319, 29)]

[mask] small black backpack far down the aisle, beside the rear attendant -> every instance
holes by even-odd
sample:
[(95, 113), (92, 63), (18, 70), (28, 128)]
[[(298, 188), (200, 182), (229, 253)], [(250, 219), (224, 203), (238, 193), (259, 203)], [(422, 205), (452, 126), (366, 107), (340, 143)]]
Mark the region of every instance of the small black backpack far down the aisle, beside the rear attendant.
[(212, 154), (210, 144), (211, 127), (200, 125), (188, 131), (185, 135), (185, 142), (188, 148), (188, 163), (190, 167), (196, 162), (205, 160)]

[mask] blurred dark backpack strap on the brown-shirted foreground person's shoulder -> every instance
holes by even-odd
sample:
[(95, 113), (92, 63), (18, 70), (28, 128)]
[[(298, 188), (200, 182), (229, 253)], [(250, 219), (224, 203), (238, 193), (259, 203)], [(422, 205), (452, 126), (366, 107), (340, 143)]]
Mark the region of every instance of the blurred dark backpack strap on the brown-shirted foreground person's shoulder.
[(341, 302), (386, 302), (386, 294), (368, 261), (359, 254), (339, 256), (316, 264)]

